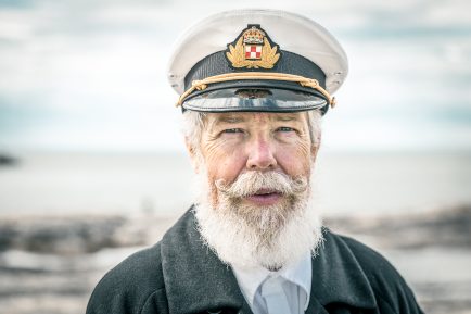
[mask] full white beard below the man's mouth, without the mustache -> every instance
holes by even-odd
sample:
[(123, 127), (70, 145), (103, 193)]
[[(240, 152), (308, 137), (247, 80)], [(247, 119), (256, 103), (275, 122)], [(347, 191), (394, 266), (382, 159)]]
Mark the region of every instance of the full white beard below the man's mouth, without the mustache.
[[(221, 200), (213, 205), (206, 173), (198, 175), (200, 202), (194, 213), (204, 242), (228, 265), (278, 269), (316, 254), (322, 222), (308, 183), (300, 197), (278, 206), (256, 208)], [(219, 188), (217, 188), (219, 189)], [(221, 194), (219, 190), (219, 196)]]

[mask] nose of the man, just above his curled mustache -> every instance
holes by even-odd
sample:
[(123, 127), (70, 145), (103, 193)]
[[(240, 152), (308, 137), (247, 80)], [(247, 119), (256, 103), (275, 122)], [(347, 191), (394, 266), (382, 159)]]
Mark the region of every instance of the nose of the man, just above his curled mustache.
[(258, 136), (247, 147), (249, 158), (246, 167), (249, 169), (271, 169), (277, 165), (275, 147), (267, 138)]

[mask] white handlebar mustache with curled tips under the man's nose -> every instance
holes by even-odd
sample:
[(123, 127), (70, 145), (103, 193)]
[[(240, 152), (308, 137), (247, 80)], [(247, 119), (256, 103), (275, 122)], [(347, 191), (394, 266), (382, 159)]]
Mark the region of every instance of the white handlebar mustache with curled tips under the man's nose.
[(230, 198), (245, 198), (256, 194), (260, 190), (277, 192), (285, 197), (297, 196), (308, 188), (306, 177), (290, 177), (278, 172), (250, 171), (238, 176), (232, 184), (226, 184), (224, 179), (215, 181), (216, 188)]

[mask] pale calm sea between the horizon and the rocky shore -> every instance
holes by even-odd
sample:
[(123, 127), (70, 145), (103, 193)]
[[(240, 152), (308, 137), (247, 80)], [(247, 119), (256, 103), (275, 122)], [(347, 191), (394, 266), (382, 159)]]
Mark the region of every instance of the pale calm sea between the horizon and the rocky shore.
[[(471, 153), (329, 152), (315, 165), (324, 215), (379, 215), (471, 204)], [(0, 216), (175, 216), (195, 199), (182, 153), (23, 153), (0, 166)]]

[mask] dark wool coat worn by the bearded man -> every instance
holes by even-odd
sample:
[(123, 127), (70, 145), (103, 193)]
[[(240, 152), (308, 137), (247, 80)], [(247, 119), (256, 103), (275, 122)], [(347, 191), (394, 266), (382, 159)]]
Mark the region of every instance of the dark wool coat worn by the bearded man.
[[(391, 264), (377, 252), (324, 230), (313, 259), (306, 313), (422, 313)], [(230, 267), (205, 247), (191, 211), (154, 247), (107, 273), (87, 314), (252, 313)]]

